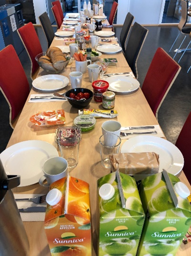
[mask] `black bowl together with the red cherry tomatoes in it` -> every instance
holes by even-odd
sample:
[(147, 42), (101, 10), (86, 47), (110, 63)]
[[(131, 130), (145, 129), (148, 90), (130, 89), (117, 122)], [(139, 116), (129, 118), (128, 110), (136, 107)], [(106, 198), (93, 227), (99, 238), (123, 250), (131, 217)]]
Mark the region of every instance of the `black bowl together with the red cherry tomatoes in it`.
[(93, 98), (93, 92), (86, 88), (75, 88), (65, 92), (64, 96), (68, 98), (72, 107), (81, 109), (90, 104)]

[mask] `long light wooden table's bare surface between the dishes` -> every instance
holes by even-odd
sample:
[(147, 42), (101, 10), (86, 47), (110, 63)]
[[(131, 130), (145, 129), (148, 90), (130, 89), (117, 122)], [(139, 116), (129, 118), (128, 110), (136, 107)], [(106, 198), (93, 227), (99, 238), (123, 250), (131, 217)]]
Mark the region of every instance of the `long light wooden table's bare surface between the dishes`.
[[(52, 46), (61, 45), (61, 42), (63, 44), (62, 40), (54, 40)], [(101, 58), (104, 57), (117, 58), (118, 61), (116, 66), (108, 68), (107, 73), (131, 71), (122, 52), (112, 54), (112, 56), (102, 54)], [(74, 65), (75, 63), (72, 64), (72, 66)], [(64, 72), (62, 72), (62, 75), (69, 77), (69, 73), (70, 66), (67, 66)], [(47, 74), (45, 71), (40, 70), (38, 75), (40, 76), (45, 74)], [(82, 87), (92, 89), (91, 82), (89, 82), (87, 72), (83, 74)], [(59, 93), (64, 93), (65, 91), (68, 91), (68, 89), (70, 88), (71, 86), (68, 85), (67, 87), (59, 91)], [(37, 90), (32, 88), (30, 94), (35, 93), (43, 92), (38, 92)], [(90, 103), (89, 108), (103, 109), (101, 103), (94, 102), (93, 99)], [(49, 142), (54, 147), (57, 147), (54, 141), (55, 131), (57, 127), (38, 127), (30, 122), (30, 117), (36, 112), (55, 109), (64, 109), (66, 117), (65, 126), (73, 125), (73, 121), (75, 117), (78, 115), (78, 110), (76, 108), (71, 107), (68, 101), (28, 103), (27, 100), (7, 147), (10, 147), (18, 142), (27, 140), (42, 140)], [(141, 88), (139, 88), (136, 92), (131, 94), (117, 94), (114, 109), (117, 110), (119, 114), (117, 118), (115, 118), (115, 120), (120, 121), (122, 126), (147, 126), (158, 124), (155, 115), (153, 115), (152, 110), (150, 109), (148, 102), (146, 101), (142, 93)], [(101, 167), (99, 153), (99, 137), (101, 136), (101, 124), (106, 120), (108, 119), (97, 119), (96, 127), (90, 132), (82, 134), (82, 141), (80, 141), (79, 147), (79, 162), (77, 167), (70, 172), (70, 176), (83, 179), (84, 181), (90, 184), (93, 234), (92, 255), (98, 255), (99, 219), (97, 200), (97, 180), (98, 178), (109, 173), (109, 170), (106, 170)], [(183, 171), (181, 171), (181, 173), (178, 176), (182, 182), (187, 184), (191, 191), (190, 184), (188, 183), (187, 178), (183, 174)], [(14, 189), (14, 193), (46, 192), (48, 192), (48, 189), (40, 186), (39, 184)], [(30, 256), (50, 255), (45, 230), (43, 229), (43, 222), (24, 222), (24, 226), (27, 232), (28, 239), (30, 241)], [(182, 244), (177, 253), (178, 256), (188, 256), (190, 254), (191, 245), (189, 244)]]

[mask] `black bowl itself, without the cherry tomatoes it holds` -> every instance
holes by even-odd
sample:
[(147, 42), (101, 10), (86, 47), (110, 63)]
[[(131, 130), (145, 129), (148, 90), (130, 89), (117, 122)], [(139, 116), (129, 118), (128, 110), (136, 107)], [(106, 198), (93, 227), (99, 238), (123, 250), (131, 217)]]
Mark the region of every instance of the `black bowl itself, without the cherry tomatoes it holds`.
[(87, 99), (87, 100), (70, 100), (68, 99), (70, 105), (72, 105), (72, 107), (75, 107), (75, 108), (78, 108), (78, 109), (82, 109), (82, 108), (85, 108), (87, 107), (92, 98), (93, 98), (93, 92), (90, 91), (89, 89), (86, 89), (86, 88), (75, 88), (75, 89), (70, 89), (69, 91), (65, 92), (64, 95), (69, 97), (70, 96), (70, 93), (74, 93), (74, 94), (78, 94), (78, 93), (90, 93), (90, 98)]

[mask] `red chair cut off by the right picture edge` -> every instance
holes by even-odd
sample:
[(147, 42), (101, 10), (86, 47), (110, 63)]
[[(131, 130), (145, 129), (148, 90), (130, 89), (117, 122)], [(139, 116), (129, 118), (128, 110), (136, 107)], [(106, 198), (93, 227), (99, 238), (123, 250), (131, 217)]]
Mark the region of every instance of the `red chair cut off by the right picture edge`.
[(185, 164), (183, 165), (183, 171), (189, 181), (191, 182), (191, 112), (189, 113), (185, 124), (181, 129), (181, 132), (178, 136), (177, 142), (175, 146), (180, 149), (183, 158), (185, 160)]

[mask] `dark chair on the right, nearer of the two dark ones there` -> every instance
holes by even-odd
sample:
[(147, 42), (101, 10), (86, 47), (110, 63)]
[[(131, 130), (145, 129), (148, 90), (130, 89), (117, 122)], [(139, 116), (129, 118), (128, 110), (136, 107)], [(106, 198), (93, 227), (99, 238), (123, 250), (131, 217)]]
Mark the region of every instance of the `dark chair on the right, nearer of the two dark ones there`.
[(148, 29), (145, 29), (145, 27), (135, 22), (131, 29), (126, 51), (124, 54), (129, 64), (129, 67), (133, 71), (136, 78), (138, 78), (137, 60), (142, 50), (147, 34)]

